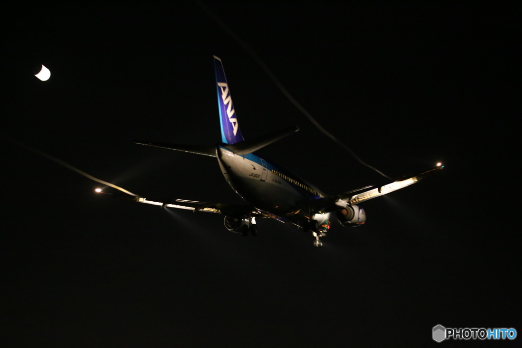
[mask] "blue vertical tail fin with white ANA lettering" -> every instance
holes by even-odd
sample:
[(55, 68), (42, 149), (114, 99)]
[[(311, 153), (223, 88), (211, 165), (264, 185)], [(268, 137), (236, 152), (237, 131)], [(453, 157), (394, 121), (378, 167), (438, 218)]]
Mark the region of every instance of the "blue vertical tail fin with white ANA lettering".
[(223, 69), (221, 59), (214, 56), (214, 68), (216, 70), (216, 88), (218, 92), (219, 122), (221, 124), (221, 141), (227, 144), (235, 144), (244, 141), (241, 129), (239, 129), (238, 117), (235, 114), (227, 77)]

